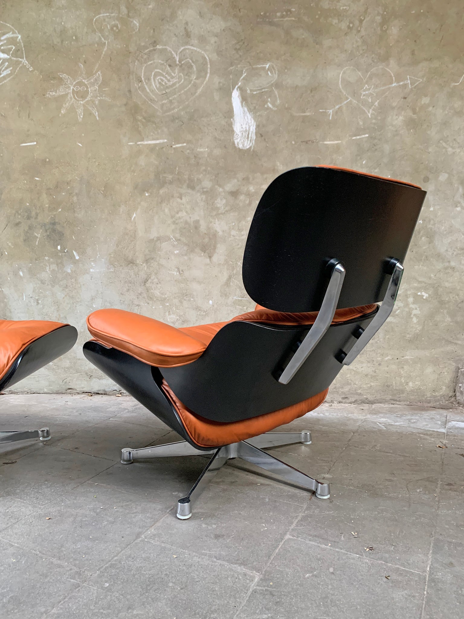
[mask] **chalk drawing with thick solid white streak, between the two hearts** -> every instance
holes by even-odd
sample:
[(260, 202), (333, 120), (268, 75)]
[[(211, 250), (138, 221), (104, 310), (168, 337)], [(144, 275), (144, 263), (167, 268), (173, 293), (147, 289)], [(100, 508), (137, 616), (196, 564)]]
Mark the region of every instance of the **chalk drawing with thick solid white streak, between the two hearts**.
[(275, 64), (267, 63), (241, 65), (232, 67), (231, 71), (234, 144), (238, 149), (252, 149), (256, 139), (256, 120), (252, 112), (262, 112), (266, 108), (276, 110), (279, 104), (273, 86), (277, 80), (277, 68)]

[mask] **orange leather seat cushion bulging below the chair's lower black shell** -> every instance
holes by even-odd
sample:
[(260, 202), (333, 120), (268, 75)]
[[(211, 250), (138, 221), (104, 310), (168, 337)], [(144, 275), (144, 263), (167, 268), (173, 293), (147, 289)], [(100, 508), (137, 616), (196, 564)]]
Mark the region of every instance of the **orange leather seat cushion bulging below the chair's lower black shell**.
[(247, 438), (259, 436), (278, 426), (285, 425), (285, 423), (290, 423), (298, 417), (303, 417), (310, 410), (316, 409), (324, 402), (329, 391), (329, 389), (325, 389), (325, 391), (299, 402), (299, 404), (293, 404), (272, 413), (244, 419), (241, 422), (221, 423), (212, 422), (187, 409), (164, 379), (161, 387), (174, 408), (177, 409), (188, 435), (200, 447), (220, 447), (221, 445), (246, 441)]

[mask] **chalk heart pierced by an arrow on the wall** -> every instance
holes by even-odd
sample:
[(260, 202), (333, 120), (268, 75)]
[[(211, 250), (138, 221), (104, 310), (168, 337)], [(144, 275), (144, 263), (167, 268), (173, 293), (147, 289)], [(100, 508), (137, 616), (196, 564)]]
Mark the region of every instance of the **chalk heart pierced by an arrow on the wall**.
[(422, 80), (419, 77), (407, 76), (402, 82), (395, 81), (395, 76), (387, 69), (387, 67), (375, 67), (371, 69), (366, 77), (363, 77), (359, 73), (358, 69), (354, 67), (345, 67), (340, 73), (340, 90), (342, 90), (346, 99), (343, 103), (339, 103), (330, 110), (319, 110), (320, 112), (327, 112), (329, 119), (332, 119), (333, 113), (341, 108), (346, 103), (353, 102), (359, 106), (361, 110), (364, 110), (371, 118), (377, 105), (379, 105), (380, 99), (385, 97), (390, 89), (408, 85), (408, 87), (414, 88)]

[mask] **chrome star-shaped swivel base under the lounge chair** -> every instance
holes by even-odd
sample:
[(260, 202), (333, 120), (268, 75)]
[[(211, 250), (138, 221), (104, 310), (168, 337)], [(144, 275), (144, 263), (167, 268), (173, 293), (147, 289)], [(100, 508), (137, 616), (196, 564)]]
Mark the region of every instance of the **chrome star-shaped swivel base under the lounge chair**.
[(187, 443), (187, 441), (157, 445), (156, 447), (145, 447), (142, 449), (124, 448), (121, 453), (121, 462), (122, 464), (131, 464), (134, 461), (158, 457), (207, 456), (208, 454), (212, 454), (212, 458), (200, 477), (194, 483), (191, 491), (178, 501), (177, 517), (181, 520), (187, 520), (192, 516), (192, 504), (217, 474), (218, 470), (226, 464), (228, 460), (233, 458), (241, 458), (247, 462), (251, 462), (261, 469), (269, 470), (271, 473), (283, 477), (289, 482), (298, 483), (307, 488), (307, 490), (314, 491), (317, 498), (328, 499), (330, 497), (330, 487), (328, 483), (320, 483), (298, 469), (294, 469), (289, 464), (285, 464), (285, 462), (262, 451), (262, 448), (288, 445), (291, 443), (311, 444), (311, 432), (267, 432), (260, 436), (254, 436), (254, 438), (247, 439), (246, 441), (232, 443), (220, 448), (211, 449), (210, 451), (196, 449), (191, 444)]

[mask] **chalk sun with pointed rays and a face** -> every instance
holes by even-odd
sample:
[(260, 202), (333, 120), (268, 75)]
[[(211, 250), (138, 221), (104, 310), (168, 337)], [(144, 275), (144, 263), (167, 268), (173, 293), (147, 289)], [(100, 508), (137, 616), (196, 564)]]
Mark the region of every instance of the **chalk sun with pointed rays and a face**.
[(79, 63), (79, 73), (75, 79), (66, 75), (66, 73), (58, 74), (63, 80), (62, 84), (56, 90), (49, 90), (47, 97), (61, 97), (67, 95), (66, 100), (61, 108), (60, 115), (64, 114), (71, 105), (74, 105), (77, 111), (77, 118), (82, 121), (84, 116), (84, 106), (92, 112), (98, 120), (97, 105), (100, 99), (110, 101), (105, 95), (100, 95), (98, 86), (101, 83), (101, 72), (95, 73), (92, 77), (87, 77), (84, 66)]

